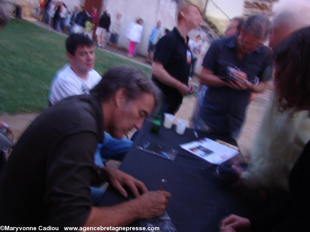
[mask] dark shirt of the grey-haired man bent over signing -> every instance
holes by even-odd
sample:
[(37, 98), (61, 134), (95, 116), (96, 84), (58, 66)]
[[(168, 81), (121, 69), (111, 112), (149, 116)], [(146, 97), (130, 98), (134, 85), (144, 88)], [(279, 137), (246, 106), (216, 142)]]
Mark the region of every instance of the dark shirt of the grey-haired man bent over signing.
[(2, 171), (0, 225), (82, 226), (103, 134), (101, 104), (92, 94), (65, 98), (39, 115)]

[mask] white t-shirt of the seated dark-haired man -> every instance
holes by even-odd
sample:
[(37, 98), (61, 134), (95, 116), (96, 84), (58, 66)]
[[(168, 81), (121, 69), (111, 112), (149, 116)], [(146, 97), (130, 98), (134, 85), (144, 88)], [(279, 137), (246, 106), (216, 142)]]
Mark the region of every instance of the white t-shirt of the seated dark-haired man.
[(90, 90), (98, 84), (101, 76), (98, 72), (91, 69), (88, 71), (88, 78), (82, 79), (73, 72), (70, 65), (65, 65), (60, 69), (51, 84), (50, 102), (52, 105), (62, 100), (63, 98), (89, 94)]

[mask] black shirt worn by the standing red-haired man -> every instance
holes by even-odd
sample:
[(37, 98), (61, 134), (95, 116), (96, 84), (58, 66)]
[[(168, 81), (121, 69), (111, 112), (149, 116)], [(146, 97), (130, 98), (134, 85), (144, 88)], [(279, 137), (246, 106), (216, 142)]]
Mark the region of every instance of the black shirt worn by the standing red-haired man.
[[(187, 42), (189, 37), (186, 37)], [(188, 84), (188, 76), (191, 65), (191, 59), (187, 61), (187, 51), (189, 52), (188, 44), (180, 35), (177, 28), (163, 36), (156, 44), (154, 54), (154, 62), (162, 63), (164, 69), (175, 79), (178, 79), (184, 84)], [(189, 52), (190, 54), (190, 52)], [(183, 100), (183, 96), (176, 88), (172, 88), (163, 84), (152, 77), (153, 81), (162, 90), (165, 101), (169, 104), (179, 104)]]

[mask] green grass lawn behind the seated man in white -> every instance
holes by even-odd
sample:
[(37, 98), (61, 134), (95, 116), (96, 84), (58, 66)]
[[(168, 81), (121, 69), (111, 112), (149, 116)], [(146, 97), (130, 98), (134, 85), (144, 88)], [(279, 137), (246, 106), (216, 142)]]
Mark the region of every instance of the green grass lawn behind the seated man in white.
[[(66, 37), (26, 21), (11, 19), (0, 32), (0, 114), (41, 112), (57, 70), (68, 62)], [(95, 70), (103, 74), (118, 64), (151, 70), (103, 50), (95, 49)]]

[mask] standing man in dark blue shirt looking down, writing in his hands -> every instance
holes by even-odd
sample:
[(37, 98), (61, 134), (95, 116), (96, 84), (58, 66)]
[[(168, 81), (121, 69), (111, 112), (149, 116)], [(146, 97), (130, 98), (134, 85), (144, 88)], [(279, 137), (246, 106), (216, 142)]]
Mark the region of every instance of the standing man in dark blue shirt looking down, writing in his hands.
[[(214, 41), (202, 63), (201, 84), (206, 92), (196, 129), (237, 138), (245, 118), (250, 93), (263, 92), (272, 77), (272, 51), (262, 44), (268, 37), (270, 21), (262, 15), (246, 20), (235, 36)], [(227, 77), (228, 68), (236, 80)], [(255, 76), (259, 84), (252, 81)]]

